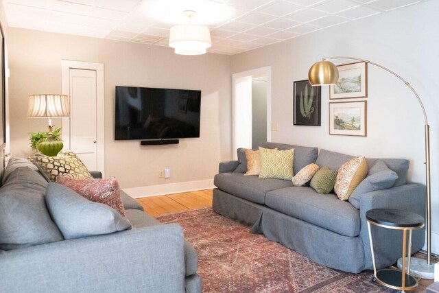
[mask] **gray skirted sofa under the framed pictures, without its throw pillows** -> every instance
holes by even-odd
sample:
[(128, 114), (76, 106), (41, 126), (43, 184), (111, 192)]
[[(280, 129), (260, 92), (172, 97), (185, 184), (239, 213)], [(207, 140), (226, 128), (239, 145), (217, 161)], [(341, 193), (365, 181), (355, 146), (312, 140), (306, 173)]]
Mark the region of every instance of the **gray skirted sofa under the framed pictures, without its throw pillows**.
[[(263, 143), (261, 146), (279, 150), (294, 148), (294, 174), (310, 163), (338, 169), (353, 158), (327, 150), (318, 154), (317, 148), (298, 145)], [(377, 161), (367, 159), (370, 168)], [(394, 185), (364, 194), (357, 192), (358, 202), (351, 203), (339, 200), (335, 194), (318, 194), (311, 187), (293, 187), (289, 180), (244, 176), (246, 157), (243, 150), (238, 150), (238, 161), (219, 164), (219, 174), (214, 179), (217, 188), (213, 190), (213, 209), (249, 225), (252, 233), (263, 233), (268, 239), (324, 266), (361, 272), (372, 268), (366, 211), (392, 208), (425, 214), (425, 187), (407, 183), (409, 162), (380, 161), (396, 172)], [(423, 247), (424, 233), (424, 229), (414, 231), (413, 253)], [(372, 226), (372, 237), (377, 267), (396, 263), (401, 257), (402, 233)]]

